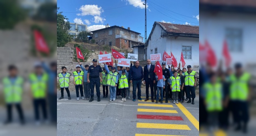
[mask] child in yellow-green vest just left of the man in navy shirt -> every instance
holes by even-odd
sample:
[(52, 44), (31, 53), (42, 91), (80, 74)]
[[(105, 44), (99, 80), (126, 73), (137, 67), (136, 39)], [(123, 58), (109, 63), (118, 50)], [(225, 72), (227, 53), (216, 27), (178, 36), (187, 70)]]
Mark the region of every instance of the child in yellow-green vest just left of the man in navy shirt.
[(128, 79), (127, 79), (127, 76), (125, 75), (125, 70), (123, 70), (122, 76), (120, 77), (120, 80), (119, 80), (119, 88), (121, 90), (122, 101), (126, 101), (126, 90), (128, 87), (129, 87)]

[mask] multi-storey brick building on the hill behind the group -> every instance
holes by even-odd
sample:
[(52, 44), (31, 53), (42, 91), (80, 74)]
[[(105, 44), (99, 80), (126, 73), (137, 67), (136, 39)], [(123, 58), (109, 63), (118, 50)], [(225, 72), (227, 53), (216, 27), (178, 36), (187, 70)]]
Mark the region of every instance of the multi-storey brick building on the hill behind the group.
[(93, 39), (98, 45), (116, 46), (118, 48), (131, 48), (133, 46), (143, 45), (143, 37), (141, 33), (131, 31), (130, 27), (125, 29), (124, 27), (106, 25), (106, 28), (91, 31), (93, 33)]

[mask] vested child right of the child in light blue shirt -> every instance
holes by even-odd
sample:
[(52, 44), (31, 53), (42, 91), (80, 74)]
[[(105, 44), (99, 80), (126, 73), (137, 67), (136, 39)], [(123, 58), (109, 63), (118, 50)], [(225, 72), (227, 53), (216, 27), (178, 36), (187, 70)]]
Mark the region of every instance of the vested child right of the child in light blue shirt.
[(168, 79), (168, 82), (170, 82), (170, 89), (172, 89), (172, 98), (173, 98), (173, 104), (178, 104), (178, 96), (179, 91), (181, 88), (181, 80), (180, 77), (177, 76), (177, 71), (173, 71), (173, 75), (170, 79)]

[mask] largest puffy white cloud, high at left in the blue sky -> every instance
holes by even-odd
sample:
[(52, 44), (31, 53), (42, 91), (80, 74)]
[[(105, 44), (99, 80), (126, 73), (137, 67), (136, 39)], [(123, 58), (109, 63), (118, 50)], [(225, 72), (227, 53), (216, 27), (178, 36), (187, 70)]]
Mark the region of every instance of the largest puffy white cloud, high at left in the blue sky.
[(102, 7), (98, 7), (98, 5), (82, 5), (79, 11), (82, 11), (82, 13), (78, 13), (77, 16), (100, 16), (100, 14), (104, 12)]

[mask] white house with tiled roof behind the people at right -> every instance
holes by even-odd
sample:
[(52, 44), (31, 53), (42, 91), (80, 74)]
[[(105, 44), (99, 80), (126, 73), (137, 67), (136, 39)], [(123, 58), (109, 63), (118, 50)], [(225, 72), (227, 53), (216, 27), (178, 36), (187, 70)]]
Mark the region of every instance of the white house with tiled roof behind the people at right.
[(150, 59), (150, 54), (161, 54), (162, 58), (164, 51), (169, 55), (172, 51), (178, 63), (182, 51), (185, 67), (199, 66), (199, 26), (154, 22), (144, 49), (145, 59)]

